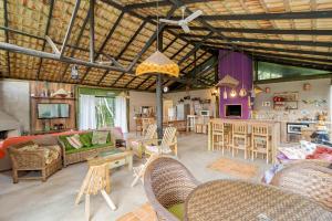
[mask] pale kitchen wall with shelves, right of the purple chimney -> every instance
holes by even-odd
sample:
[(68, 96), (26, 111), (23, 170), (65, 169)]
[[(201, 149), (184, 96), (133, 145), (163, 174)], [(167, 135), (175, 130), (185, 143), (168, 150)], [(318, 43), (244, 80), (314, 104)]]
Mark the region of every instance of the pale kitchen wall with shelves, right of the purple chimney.
[[(303, 91), (303, 84), (310, 83), (311, 90)], [(257, 95), (255, 98), (255, 107), (260, 118), (272, 118), (278, 120), (297, 120), (298, 118), (304, 117), (314, 117), (318, 112), (324, 110), (330, 113), (331, 104), (331, 80), (321, 78), (321, 80), (308, 80), (308, 81), (295, 81), (295, 82), (281, 82), (281, 83), (271, 83), (271, 84), (259, 84), (261, 88), (270, 87), (271, 92), (269, 94), (262, 92)], [(294, 110), (273, 110), (273, 94), (280, 92), (299, 92), (299, 108)], [(323, 106), (315, 106), (314, 104), (304, 104), (303, 99), (326, 99), (326, 104)], [(270, 102), (271, 106), (262, 106), (263, 102)], [(309, 113), (309, 114), (305, 114)]]

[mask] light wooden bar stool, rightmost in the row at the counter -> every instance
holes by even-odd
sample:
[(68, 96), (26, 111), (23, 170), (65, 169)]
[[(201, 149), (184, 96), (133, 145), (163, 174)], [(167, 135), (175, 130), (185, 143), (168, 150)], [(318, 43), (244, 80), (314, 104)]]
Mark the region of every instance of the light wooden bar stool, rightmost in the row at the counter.
[(269, 127), (264, 125), (252, 125), (251, 133), (251, 159), (257, 158), (257, 154), (267, 156), (267, 164), (271, 158), (271, 134)]

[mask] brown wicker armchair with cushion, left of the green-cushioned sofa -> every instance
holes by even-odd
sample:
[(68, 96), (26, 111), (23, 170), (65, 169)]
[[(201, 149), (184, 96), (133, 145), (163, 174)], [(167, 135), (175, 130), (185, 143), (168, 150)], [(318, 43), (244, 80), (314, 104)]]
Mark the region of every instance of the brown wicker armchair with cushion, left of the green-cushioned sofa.
[[(46, 179), (62, 169), (62, 151), (58, 139), (53, 136), (43, 136), (28, 141), (12, 144), (8, 148), (12, 165), (13, 183), (20, 179)], [(40, 171), (40, 176), (24, 177), (20, 173)]]

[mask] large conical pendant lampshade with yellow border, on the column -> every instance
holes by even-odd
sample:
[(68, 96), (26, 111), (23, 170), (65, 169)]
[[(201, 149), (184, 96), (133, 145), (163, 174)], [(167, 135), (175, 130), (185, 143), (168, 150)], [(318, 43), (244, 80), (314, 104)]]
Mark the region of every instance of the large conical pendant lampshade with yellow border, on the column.
[(162, 52), (156, 51), (137, 66), (136, 76), (143, 74), (167, 74), (178, 77), (179, 67)]

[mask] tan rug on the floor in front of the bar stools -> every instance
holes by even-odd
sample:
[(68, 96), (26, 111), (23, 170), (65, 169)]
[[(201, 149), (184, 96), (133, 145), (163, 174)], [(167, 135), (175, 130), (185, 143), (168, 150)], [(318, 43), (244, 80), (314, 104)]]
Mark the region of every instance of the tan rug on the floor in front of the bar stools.
[(209, 165), (208, 168), (242, 179), (251, 179), (258, 175), (257, 166), (227, 158), (218, 159)]

